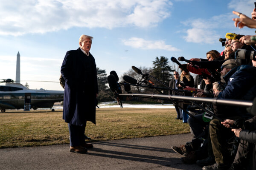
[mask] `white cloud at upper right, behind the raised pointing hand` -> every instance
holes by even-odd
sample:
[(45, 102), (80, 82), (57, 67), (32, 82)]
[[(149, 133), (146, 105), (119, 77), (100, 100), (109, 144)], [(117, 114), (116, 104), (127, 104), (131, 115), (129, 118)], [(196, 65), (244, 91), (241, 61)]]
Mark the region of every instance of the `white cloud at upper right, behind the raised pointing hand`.
[[(251, 17), (254, 0), (231, 0), (227, 7)], [(213, 44), (218, 42), (219, 38), (224, 37), (222, 30), (226, 31), (224, 31), (225, 34), (227, 32), (236, 32), (244, 35), (253, 34), (253, 31), (247, 28), (235, 28), (234, 22), (232, 21), (232, 18), (235, 17), (237, 16), (230, 11), (227, 14), (220, 14), (207, 19), (189, 19), (182, 22), (184, 26), (190, 27), (183, 31), (186, 33), (186, 36), (183, 36), (183, 38), (187, 42)]]

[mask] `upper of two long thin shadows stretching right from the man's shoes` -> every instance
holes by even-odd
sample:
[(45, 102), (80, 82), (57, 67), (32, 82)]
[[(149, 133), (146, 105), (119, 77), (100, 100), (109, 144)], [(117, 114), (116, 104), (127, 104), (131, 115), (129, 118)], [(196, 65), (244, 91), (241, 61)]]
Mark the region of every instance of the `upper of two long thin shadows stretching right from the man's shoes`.
[(120, 143), (112, 143), (112, 142), (93, 142), (93, 143), (108, 145), (108, 146), (115, 146), (115, 147), (125, 147), (125, 148), (130, 148), (130, 149), (152, 150), (152, 151), (158, 151), (158, 152), (174, 153), (174, 151), (172, 149), (166, 149), (166, 148), (161, 148), (161, 147), (150, 147), (150, 146), (141, 146), (141, 145), (133, 145), (133, 144), (120, 144)]

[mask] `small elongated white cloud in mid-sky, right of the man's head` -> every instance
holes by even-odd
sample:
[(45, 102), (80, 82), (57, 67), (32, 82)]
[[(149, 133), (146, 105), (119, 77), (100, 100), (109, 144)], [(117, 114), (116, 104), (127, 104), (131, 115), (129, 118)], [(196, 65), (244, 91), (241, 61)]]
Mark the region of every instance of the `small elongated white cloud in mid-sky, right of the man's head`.
[(143, 38), (132, 37), (128, 40), (122, 40), (122, 42), (133, 48), (141, 48), (144, 50), (167, 50), (167, 51), (180, 51), (178, 48), (173, 47), (172, 45), (166, 45), (163, 40), (144, 40)]

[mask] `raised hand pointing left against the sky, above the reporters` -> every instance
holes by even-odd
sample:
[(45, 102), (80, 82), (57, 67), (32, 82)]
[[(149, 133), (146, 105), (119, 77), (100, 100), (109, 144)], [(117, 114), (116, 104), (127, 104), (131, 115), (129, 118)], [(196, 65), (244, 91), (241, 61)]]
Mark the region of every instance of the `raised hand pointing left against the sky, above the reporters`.
[(256, 20), (250, 19), (244, 14), (241, 14), (237, 11), (233, 11), (233, 14), (236, 14), (239, 16), (239, 18), (233, 18), (232, 20), (235, 21), (235, 27), (244, 28), (244, 26), (247, 26), (249, 28), (256, 28)]

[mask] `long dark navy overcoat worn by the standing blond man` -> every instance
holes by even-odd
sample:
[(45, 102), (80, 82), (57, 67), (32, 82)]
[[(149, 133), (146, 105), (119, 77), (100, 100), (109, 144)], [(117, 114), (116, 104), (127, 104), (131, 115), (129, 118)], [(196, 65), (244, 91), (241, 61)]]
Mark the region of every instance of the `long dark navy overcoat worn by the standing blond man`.
[(85, 55), (80, 48), (67, 51), (61, 65), (65, 79), (63, 119), (72, 125), (83, 126), (95, 120), (95, 102), (98, 94), (94, 57)]

